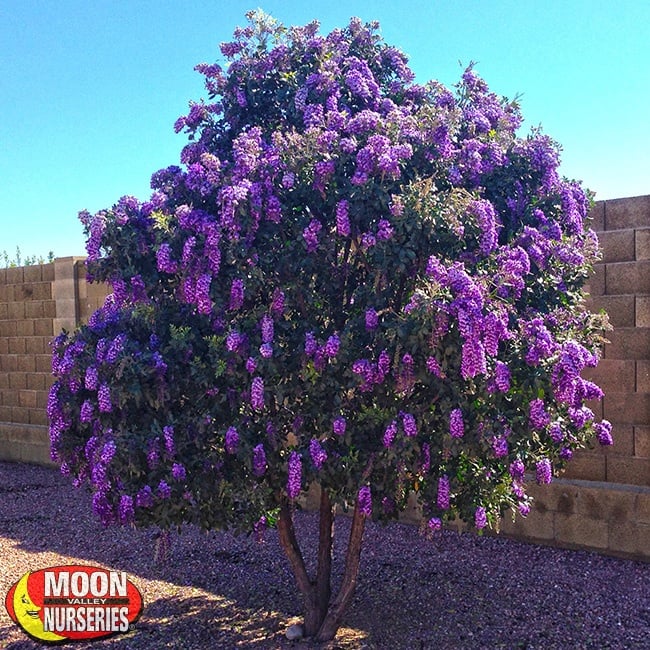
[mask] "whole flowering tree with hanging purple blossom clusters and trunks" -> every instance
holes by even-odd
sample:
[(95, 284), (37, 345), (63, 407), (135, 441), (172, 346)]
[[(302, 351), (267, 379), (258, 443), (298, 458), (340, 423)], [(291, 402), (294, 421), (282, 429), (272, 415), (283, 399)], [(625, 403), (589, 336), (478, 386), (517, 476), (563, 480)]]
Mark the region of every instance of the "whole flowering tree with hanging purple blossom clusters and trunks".
[[(306, 634), (336, 634), (364, 523), (415, 495), (429, 528), (526, 514), (610, 425), (580, 377), (605, 323), (581, 286), (589, 200), (558, 147), (472, 67), (414, 83), (377, 25), (261, 13), (197, 66), (183, 167), (82, 214), (113, 293), (54, 345), (53, 458), (105, 524), (277, 525)], [(320, 488), (318, 566), (293, 527)], [(334, 508), (353, 512), (331, 593)]]

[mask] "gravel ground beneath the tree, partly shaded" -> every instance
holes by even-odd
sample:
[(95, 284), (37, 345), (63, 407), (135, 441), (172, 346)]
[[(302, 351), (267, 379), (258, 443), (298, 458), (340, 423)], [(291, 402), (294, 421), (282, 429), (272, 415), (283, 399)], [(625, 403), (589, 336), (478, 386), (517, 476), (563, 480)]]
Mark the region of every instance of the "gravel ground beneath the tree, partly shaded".
[[(337, 520), (337, 567), (349, 520)], [(316, 517), (299, 513), (305, 546)], [(275, 531), (171, 536), (103, 529), (85, 492), (56, 469), (0, 463), (0, 597), (25, 572), (58, 564), (126, 571), (144, 612), (128, 635), (73, 648), (306, 650), (287, 641), (300, 601)], [(308, 562), (312, 558), (307, 558)], [(339, 575), (335, 576), (335, 579)], [(0, 647), (31, 650), (0, 607)], [(68, 647), (68, 646), (64, 646)], [(331, 650), (650, 648), (650, 564), (407, 525), (366, 529), (359, 585)]]

